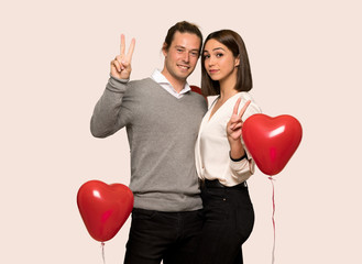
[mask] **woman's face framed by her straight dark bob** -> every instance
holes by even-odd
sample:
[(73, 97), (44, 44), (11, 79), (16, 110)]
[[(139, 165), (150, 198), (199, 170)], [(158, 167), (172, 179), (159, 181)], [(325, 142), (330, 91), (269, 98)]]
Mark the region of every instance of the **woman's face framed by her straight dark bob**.
[(237, 77), (239, 58), (222, 43), (209, 40), (202, 56), (205, 69), (212, 80), (224, 81)]

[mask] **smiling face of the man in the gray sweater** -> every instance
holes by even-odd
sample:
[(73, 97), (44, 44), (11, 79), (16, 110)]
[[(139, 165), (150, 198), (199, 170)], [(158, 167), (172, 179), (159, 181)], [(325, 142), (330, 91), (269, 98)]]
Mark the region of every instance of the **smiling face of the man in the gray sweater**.
[(165, 77), (171, 81), (186, 81), (197, 64), (199, 47), (200, 38), (196, 34), (176, 32), (168, 50), (163, 50)]

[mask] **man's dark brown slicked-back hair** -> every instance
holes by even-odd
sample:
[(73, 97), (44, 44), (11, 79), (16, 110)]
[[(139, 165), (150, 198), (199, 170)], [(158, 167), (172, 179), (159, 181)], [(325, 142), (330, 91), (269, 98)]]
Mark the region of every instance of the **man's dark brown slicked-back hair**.
[(167, 35), (165, 37), (163, 50), (165, 50), (166, 52), (168, 51), (176, 32), (190, 33), (197, 35), (200, 38), (200, 46), (199, 46), (199, 53), (200, 53), (202, 46), (202, 33), (196, 24), (189, 23), (187, 21), (177, 22), (176, 24), (169, 28)]

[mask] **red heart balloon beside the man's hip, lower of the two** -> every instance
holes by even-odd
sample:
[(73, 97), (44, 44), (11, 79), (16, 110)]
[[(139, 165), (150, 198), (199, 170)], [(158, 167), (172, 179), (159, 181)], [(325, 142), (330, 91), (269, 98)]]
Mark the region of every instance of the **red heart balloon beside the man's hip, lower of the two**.
[(133, 194), (122, 184), (89, 180), (78, 190), (77, 205), (89, 234), (97, 241), (112, 239), (133, 208)]

